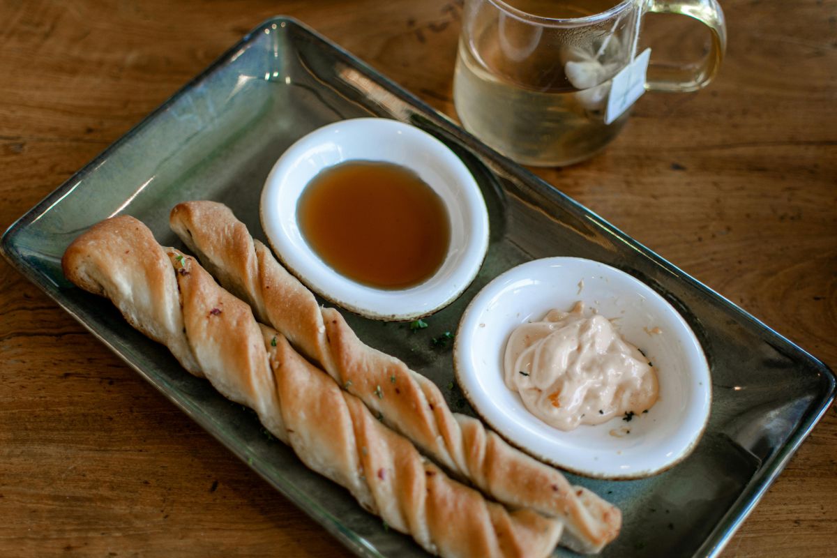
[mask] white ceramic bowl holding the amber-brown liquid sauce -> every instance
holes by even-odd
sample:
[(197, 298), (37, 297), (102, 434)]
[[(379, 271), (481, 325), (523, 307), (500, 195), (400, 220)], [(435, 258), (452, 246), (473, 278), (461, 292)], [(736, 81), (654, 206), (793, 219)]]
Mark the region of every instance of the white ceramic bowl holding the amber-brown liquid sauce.
[[(407, 289), (375, 289), (338, 274), (311, 250), (300, 233), (297, 201), (320, 171), (345, 161), (405, 166), (442, 198), (450, 218), (450, 246), (430, 279)], [(275, 253), (303, 283), (377, 320), (414, 320), (448, 305), (474, 279), (488, 248), (485, 200), (465, 164), (428, 133), (383, 118), (342, 120), (290, 146), (264, 183), (261, 222)]]

